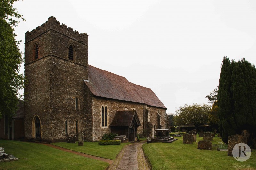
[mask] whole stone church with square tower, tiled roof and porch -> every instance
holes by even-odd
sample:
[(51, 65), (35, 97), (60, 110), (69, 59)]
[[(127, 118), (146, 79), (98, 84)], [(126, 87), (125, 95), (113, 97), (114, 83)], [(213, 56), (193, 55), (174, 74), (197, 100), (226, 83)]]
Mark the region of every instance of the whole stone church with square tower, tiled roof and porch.
[(125, 77), (88, 65), (88, 35), (51, 16), (25, 33), (25, 138), (86, 141), (105, 133), (134, 141), (168, 126), (155, 93)]

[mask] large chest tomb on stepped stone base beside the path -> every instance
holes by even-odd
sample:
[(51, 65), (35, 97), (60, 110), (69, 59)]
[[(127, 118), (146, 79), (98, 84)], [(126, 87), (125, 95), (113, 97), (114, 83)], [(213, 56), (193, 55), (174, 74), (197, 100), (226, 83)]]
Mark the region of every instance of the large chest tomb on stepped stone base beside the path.
[(147, 143), (151, 142), (172, 142), (177, 139), (174, 139), (174, 137), (169, 136), (170, 129), (156, 129), (156, 137), (154, 137), (151, 140), (148, 140)]

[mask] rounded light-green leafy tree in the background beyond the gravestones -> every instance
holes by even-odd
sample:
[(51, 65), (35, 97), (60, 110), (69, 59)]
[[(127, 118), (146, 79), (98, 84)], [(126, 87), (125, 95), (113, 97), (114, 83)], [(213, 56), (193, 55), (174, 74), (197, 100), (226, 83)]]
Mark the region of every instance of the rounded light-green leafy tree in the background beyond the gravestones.
[[(175, 123), (179, 125), (193, 124), (195, 127), (207, 123), (210, 106), (207, 104), (185, 105), (176, 110)], [(176, 124), (176, 125), (177, 125)]]

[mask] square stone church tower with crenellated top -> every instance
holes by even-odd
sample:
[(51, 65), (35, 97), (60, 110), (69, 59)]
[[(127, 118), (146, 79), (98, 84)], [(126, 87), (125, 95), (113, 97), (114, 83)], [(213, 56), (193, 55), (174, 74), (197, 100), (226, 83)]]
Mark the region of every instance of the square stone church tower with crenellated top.
[[(25, 137), (63, 141), (83, 131), (88, 35), (55, 17), (25, 33)], [(66, 128), (63, 128), (66, 127)]]

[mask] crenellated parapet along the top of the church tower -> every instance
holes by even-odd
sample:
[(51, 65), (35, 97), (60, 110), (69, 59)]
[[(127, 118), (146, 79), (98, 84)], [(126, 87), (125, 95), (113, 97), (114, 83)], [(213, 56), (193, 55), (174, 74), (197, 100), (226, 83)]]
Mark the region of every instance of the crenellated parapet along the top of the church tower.
[(60, 25), (60, 22), (57, 21), (57, 19), (53, 16), (49, 17), (48, 21), (43, 23), (41, 26), (36, 27), (36, 29), (33, 29), (32, 31), (27, 31), (25, 33), (25, 43), (49, 30), (57, 31), (76, 41), (88, 45), (88, 35), (86, 33), (79, 33), (76, 30), (74, 31), (71, 27), (67, 28), (65, 24)]

